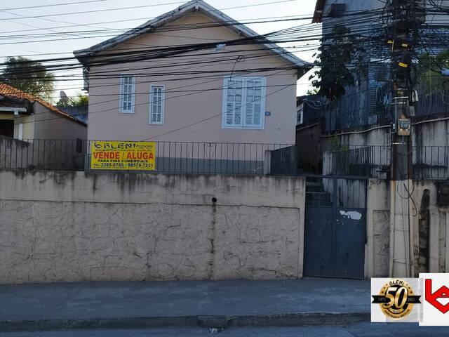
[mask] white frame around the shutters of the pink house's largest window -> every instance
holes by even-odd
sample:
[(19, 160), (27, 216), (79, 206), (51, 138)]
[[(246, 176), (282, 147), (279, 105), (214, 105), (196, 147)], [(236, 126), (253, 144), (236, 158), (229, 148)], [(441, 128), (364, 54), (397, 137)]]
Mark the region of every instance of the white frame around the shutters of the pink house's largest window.
[[(228, 91), (228, 81), (232, 79), (233, 81), (242, 81), (243, 82), (243, 92), (242, 92), (242, 112), (241, 112), (241, 123), (240, 125), (229, 125), (226, 123), (226, 115), (227, 115), (227, 91)], [(247, 90), (247, 82), (248, 81), (262, 81), (262, 88), (260, 93), (260, 125), (254, 124), (246, 124), (246, 90)], [(265, 128), (265, 112), (266, 112), (266, 87), (267, 87), (267, 79), (265, 77), (230, 77), (226, 76), (223, 81), (223, 102), (222, 102), (222, 128), (239, 128), (243, 130), (264, 130)]]

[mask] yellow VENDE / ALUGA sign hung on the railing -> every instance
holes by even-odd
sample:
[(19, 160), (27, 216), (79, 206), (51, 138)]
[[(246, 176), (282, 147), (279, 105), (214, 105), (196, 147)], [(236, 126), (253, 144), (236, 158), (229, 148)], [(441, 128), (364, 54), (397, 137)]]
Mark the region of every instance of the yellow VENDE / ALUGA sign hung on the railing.
[(91, 169), (154, 171), (156, 143), (93, 141)]

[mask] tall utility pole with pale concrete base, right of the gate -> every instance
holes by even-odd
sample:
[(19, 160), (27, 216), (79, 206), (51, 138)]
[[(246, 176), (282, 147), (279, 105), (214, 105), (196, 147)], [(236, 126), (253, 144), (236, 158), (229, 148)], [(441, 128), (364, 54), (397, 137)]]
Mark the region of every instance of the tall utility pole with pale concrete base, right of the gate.
[[(393, 79), (391, 107), (394, 110), (394, 127), (391, 133), (390, 277), (413, 277), (413, 231), (410, 225), (409, 188), (413, 185), (413, 182), (410, 183), (412, 145), (410, 119), (408, 119), (410, 64), (402, 60), (403, 55), (409, 53), (413, 46), (406, 44), (406, 47), (403, 47), (403, 41), (409, 41), (411, 32), (409, 29), (399, 29), (405, 20), (404, 7), (412, 8), (409, 7), (408, 1), (394, 0), (391, 5), (395, 22), (391, 32)], [(402, 76), (399, 76), (399, 71), (403, 73)]]

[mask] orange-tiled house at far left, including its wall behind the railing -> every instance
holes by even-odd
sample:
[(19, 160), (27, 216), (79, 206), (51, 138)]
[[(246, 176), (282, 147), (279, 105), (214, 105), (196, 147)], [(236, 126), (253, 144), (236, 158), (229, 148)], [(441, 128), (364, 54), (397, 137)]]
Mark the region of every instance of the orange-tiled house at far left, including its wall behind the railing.
[(83, 169), (87, 126), (41, 98), (0, 84), (0, 169)]

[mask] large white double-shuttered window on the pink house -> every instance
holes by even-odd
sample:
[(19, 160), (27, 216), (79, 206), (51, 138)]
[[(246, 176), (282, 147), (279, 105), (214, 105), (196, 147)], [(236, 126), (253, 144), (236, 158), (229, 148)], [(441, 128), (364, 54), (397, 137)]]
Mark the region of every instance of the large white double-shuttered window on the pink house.
[(222, 128), (264, 128), (263, 77), (226, 77), (223, 90)]

